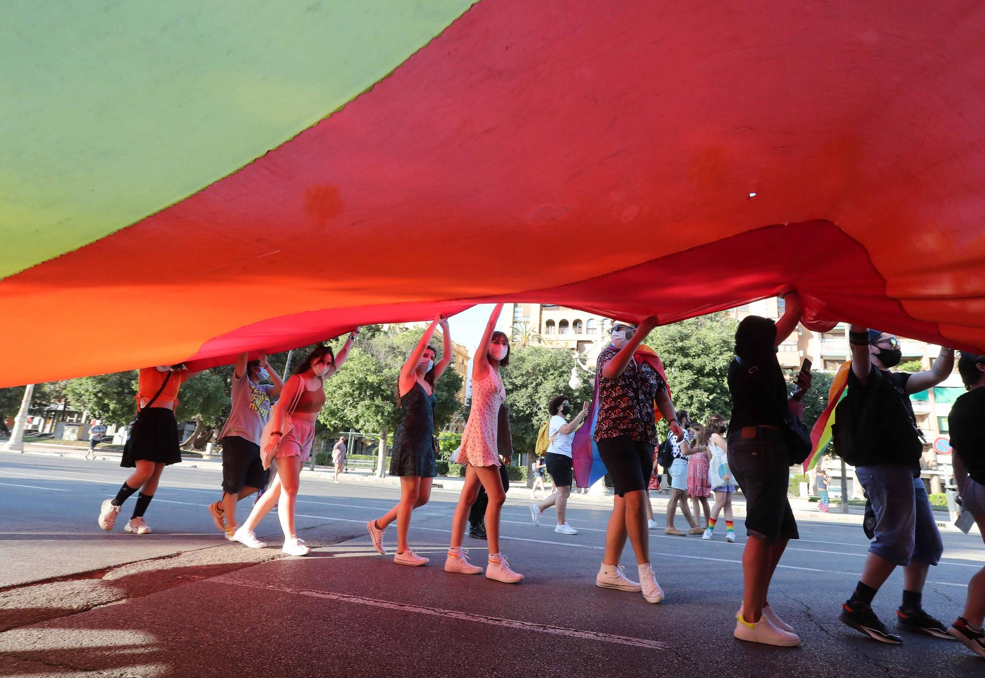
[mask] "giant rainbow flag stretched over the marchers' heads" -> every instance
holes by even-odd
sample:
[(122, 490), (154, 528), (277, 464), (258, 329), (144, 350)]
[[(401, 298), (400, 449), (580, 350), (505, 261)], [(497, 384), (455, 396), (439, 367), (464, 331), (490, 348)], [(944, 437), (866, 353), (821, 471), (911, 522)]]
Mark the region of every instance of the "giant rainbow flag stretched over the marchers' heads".
[(0, 386), (797, 289), (985, 350), (985, 5), (0, 5)]

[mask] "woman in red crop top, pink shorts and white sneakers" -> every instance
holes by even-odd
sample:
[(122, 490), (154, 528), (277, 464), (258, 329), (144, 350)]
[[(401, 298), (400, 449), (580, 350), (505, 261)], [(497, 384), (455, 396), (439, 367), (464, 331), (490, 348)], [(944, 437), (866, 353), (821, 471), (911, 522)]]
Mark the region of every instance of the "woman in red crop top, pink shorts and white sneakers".
[[(281, 405), (272, 413), (273, 431), (263, 452), (274, 456), (277, 472), (260, 500), (253, 505), (249, 517), (233, 533), (232, 538), (251, 549), (262, 549), (265, 542), (257, 539), (256, 526), (270, 509), (277, 505), (277, 516), (284, 531), (282, 551), (289, 556), (306, 556), (311, 549), (298, 538), (295, 529), (295, 508), (297, 505), (297, 486), (300, 482), (301, 468), (311, 456), (314, 442), (314, 423), (325, 404), (325, 380), (338, 372), (349, 357), (353, 341), (359, 329), (349, 334), (338, 357), (330, 346), (319, 344), (311, 353), (297, 364), (295, 372), (284, 383), (281, 390)], [(291, 404), (294, 403), (294, 408)], [(293, 428), (287, 436), (283, 431), (290, 418)], [(283, 439), (278, 445), (278, 439)]]

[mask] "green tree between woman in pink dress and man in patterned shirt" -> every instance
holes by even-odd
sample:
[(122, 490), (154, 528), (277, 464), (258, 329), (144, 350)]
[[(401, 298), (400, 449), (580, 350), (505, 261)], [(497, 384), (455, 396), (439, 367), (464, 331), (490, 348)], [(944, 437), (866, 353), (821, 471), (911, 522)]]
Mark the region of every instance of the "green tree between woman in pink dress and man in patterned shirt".
[(567, 382), (573, 367), (571, 354), (565, 349), (530, 346), (510, 353), (509, 366), (502, 369), (502, 381), (506, 388), (515, 452), (533, 451), (541, 424), (551, 418), (548, 414), (551, 398), (566, 396), (571, 402), (572, 414), (582, 403), (592, 399), (590, 374), (583, 373), (581, 387), (572, 392)]

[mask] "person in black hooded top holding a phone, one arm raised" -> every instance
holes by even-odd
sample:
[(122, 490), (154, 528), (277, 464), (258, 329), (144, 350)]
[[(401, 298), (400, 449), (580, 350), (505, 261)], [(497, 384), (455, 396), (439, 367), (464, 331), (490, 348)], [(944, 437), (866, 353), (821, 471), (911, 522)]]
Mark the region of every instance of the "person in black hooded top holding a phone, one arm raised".
[[(736, 330), (736, 358), (728, 372), (732, 396), (728, 458), (746, 497), (749, 534), (742, 557), (743, 605), (733, 635), (750, 643), (793, 646), (800, 644), (800, 638), (767, 599), (787, 542), (799, 538), (787, 501), (790, 459), (782, 427), (785, 409), (792, 411), (800, 403), (788, 403), (776, 347), (796, 329), (803, 310), (797, 295), (785, 299), (786, 310), (778, 321), (749, 315)], [(811, 385), (811, 375), (801, 373), (798, 385), (802, 396)]]

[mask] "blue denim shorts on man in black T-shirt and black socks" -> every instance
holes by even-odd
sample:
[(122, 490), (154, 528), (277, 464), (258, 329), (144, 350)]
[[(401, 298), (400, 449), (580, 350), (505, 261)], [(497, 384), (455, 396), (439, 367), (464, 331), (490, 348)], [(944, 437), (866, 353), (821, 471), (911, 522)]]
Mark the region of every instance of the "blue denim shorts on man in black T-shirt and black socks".
[(911, 560), (937, 565), (944, 543), (923, 481), (906, 466), (859, 466), (855, 476), (876, 512), (869, 553), (898, 566)]

